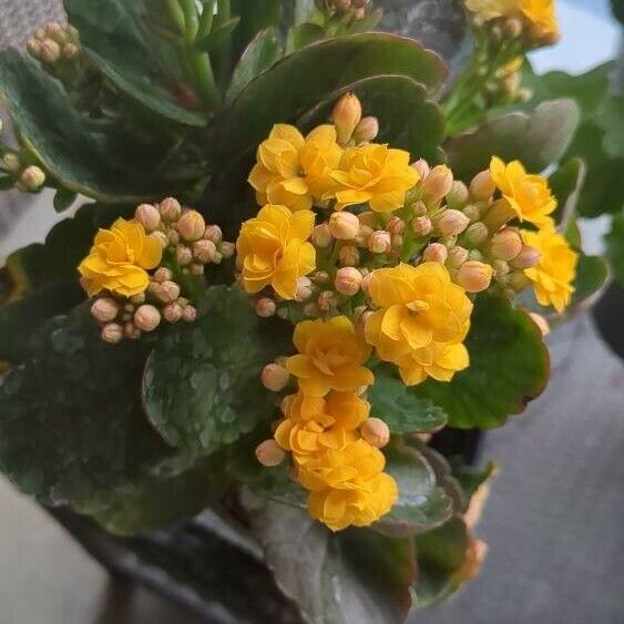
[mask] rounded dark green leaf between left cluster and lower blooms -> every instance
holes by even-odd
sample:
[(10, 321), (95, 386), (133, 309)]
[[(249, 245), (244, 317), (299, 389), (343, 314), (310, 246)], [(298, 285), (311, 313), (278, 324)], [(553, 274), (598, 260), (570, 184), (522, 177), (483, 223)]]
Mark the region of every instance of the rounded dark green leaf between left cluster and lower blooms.
[[(278, 331), (275, 331), (278, 329)], [(147, 417), (172, 446), (209, 454), (273, 418), (263, 367), (291, 349), (286, 325), (263, 320), (238, 288), (213, 286), (198, 319), (164, 334), (145, 368)]]

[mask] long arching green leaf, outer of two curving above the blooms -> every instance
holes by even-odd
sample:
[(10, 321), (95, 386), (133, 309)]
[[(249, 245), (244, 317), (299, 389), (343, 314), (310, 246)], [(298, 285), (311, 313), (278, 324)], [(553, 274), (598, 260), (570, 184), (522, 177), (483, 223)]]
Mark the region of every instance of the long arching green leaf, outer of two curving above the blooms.
[[(218, 123), (222, 161), (254, 150), (275, 123), (293, 123), (324, 98), (365, 78), (396, 74), (434, 95), (447, 69), (416, 41), (391, 34), (352, 34), (319, 41), (259, 74), (224, 111)], [(297, 89), (291, 89), (293, 80)]]

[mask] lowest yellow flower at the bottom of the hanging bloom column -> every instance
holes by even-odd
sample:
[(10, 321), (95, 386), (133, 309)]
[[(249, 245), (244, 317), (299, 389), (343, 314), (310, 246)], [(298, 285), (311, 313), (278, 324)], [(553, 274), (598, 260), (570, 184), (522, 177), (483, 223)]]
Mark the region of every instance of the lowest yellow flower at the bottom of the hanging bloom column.
[(398, 498), (397, 482), (382, 472), (385, 464), (383, 453), (359, 439), (299, 467), (297, 477), (310, 490), (310, 515), (333, 531), (379, 520)]

